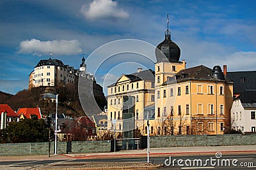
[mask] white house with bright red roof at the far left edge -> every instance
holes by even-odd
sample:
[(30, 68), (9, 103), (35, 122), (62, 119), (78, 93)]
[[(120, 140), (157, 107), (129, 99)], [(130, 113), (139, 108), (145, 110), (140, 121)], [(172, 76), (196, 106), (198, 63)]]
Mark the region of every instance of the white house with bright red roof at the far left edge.
[(5, 129), (6, 124), (8, 125), (12, 121), (19, 121), (19, 116), (8, 104), (0, 104), (0, 121), (1, 129)]

